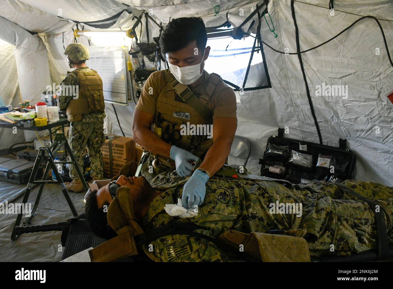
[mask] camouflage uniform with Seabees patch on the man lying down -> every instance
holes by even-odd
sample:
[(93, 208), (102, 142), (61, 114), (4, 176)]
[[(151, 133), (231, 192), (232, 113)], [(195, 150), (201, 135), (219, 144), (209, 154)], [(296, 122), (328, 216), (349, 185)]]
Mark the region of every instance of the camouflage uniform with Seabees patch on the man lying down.
[[(243, 175), (243, 177), (246, 177)], [(158, 228), (169, 221), (194, 222), (205, 230), (194, 232), (217, 237), (228, 230), (244, 233), (268, 230), (307, 230), (305, 239), (310, 256), (350, 255), (376, 249), (376, 223), (368, 204), (351, 194), (343, 193), (331, 183), (284, 186), (263, 177), (253, 179), (211, 177), (206, 185), (206, 197), (193, 218), (169, 216), (165, 204), (177, 204), (187, 178), (177, 173), (161, 174), (153, 180), (156, 190), (163, 190), (152, 202), (142, 226)], [(254, 179), (259, 178), (259, 179)], [(347, 180), (345, 186), (354, 192), (375, 199), (386, 219), (389, 243), (393, 242), (393, 188), (381, 184)], [(293, 214), (270, 214), (270, 204), (301, 203), (301, 217)], [(230, 253), (205, 240), (185, 235), (169, 235), (151, 242), (154, 254), (161, 261), (238, 261)], [(334, 247), (332, 246), (334, 245)], [(145, 252), (147, 247), (144, 247)], [(332, 251), (334, 249), (334, 251)]]

